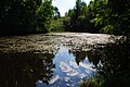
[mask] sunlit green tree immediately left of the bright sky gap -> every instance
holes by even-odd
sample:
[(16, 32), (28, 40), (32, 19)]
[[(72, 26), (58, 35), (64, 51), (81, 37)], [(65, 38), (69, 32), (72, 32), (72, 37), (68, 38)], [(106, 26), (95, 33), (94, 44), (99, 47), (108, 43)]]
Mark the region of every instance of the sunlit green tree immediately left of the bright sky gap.
[(47, 33), (50, 28), (50, 20), (53, 15), (53, 7), (51, 0), (44, 0), (40, 8), (36, 11), (37, 32)]

